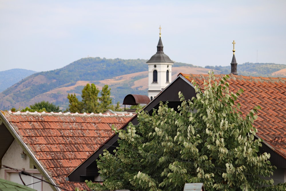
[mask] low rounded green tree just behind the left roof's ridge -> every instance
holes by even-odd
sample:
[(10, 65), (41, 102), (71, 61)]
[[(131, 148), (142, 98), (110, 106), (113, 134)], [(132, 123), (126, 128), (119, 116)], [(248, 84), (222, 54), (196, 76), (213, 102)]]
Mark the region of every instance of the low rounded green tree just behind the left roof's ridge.
[[(12, 108), (13, 109), (13, 108)], [(30, 111), (30, 112), (60, 112), (61, 109), (59, 109), (59, 106), (54, 105), (53, 103), (49, 103), (48, 101), (41, 101), (38, 103), (34, 103), (33, 105), (30, 105), (30, 107), (26, 107), (25, 109), (22, 109), (21, 111)]]

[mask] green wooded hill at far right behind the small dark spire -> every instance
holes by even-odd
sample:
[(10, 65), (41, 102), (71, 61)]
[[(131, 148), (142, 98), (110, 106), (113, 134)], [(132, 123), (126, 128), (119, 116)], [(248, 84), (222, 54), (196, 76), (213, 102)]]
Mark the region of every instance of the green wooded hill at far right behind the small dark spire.
[[(221, 74), (229, 74), (231, 71), (231, 65), (229, 66), (205, 66), (205, 68), (219, 70)], [(262, 77), (283, 77), (285, 73), (273, 74), (279, 70), (286, 68), (285, 64), (274, 63), (250, 63), (237, 64), (237, 73), (242, 76), (262, 76)]]

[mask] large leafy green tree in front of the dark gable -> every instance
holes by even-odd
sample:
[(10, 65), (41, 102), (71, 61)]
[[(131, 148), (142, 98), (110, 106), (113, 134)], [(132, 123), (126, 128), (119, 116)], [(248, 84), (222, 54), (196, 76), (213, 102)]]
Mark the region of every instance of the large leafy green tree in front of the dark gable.
[[(228, 76), (226, 76), (227, 78)], [(273, 188), (274, 166), (269, 153), (259, 154), (261, 139), (253, 121), (259, 107), (243, 118), (226, 78), (213, 74), (202, 92), (186, 101), (179, 92), (178, 111), (160, 103), (152, 115), (141, 111), (138, 125), (119, 133), (115, 154), (104, 151), (98, 168), (103, 184), (86, 181), (94, 190), (183, 190), (185, 183), (202, 182), (206, 190), (285, 190)], [(193, 112), (196, 111), (196, 112)]]

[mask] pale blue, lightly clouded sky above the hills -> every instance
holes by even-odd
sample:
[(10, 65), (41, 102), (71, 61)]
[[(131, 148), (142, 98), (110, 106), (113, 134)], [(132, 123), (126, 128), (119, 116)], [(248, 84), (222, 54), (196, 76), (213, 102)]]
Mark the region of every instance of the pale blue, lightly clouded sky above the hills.
[(286, 1), (1, 0), (0, 71), (62, 68), (87, 57), (150, 59), (159, 26), (174, 62), (286, 64)]

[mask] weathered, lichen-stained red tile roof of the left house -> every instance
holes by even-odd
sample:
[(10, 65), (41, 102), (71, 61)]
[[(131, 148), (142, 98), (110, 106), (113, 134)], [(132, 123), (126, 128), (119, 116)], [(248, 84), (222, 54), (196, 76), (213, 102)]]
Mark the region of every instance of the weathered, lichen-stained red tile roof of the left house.
[(114, 134), (112, 125), (121, 128), (133, 117), (131, 114), (2, 113), (48, 174), (57, 176), (53, 178), (56, 184), (67, 190), (76, 187), (88, 190), (85, 183), (65, 181), (66, 175)]

